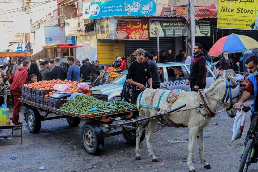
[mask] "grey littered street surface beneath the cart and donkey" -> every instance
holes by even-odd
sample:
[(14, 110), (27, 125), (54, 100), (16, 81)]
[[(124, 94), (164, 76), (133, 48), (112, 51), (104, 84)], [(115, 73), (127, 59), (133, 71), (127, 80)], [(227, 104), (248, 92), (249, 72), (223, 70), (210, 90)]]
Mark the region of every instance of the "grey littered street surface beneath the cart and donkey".
[[(250, 105), (251, 100), (245, 105)], [(244, 138), (231, 141), (231, 132), (234, 119), (227, 118), (225, 113), (214, 117), (204, 130), (205, 159), (212, 169), (204, 169), (199, 161), (197, 145), (193, 154), (193, 165), (198, 172), (235, 172), (239, 166), (239, 156)], [(20, 115), (23, 119), (23, 115)], [(154, 154), (159, 162), (152, 162), (148, 155), (146, 141), (141, 145), (142, 160), (135, 160), (135, 147), (126, 143), (122, 135), (105, 138), (105, 148), (99, 156), (87, 154), (80, 141), (80, 130), (83, 121), (78, 127), (70, 127), (66, 119), (43, 121), (40, 133), (32, 134), (27, 130), (25, 123), (23, 144), (19, 138), (0, 140), (0, 172), (34, 172), (34, 171), (173, 171), (187, 172), (188, 166), (182, 160), (187, 158), (188, 143), (171, 144), (169, 139), (185, 140), (188, 138), (188, 128), (165, 127), (154, 133), (152, 145)], [(212, 125), (218, 123), (218, 125)], [(243, 133), (249, 128), (249, 117)], [(6, 133), (3, 131), (0, 134)], [(9, 131), (8, 131), (9, 132)], [(18, 131), (15, 131), (18, 132)], [(70, 141), (74, 141), (67, 145)], [(9, 157), (18, 157), (15, 161)], [(157, 166), (164, 163), (162, 167)], [(39, 170), (44, 166), (44, 170)], [(249, 172), (257, 172), (258, 165), (252, 164)]]

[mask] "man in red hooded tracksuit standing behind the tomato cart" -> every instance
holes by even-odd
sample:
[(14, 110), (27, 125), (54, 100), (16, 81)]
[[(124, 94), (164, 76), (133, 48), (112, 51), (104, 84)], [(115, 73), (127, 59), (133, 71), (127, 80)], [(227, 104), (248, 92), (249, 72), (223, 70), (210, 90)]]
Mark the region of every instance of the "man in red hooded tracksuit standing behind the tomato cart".
[(21, 110), (21, 102), (18, 100), (21, 98), (22, 95), (22, 85), (24, 85), (28, 78), (28, 70), (30, 69), (30, 62), (27, 60), (24, 60), (22, 63), (22, 67), (18, 69), (17, 72), (15, 72), (14, 75), (12, 75), (8, 81), (11, 84), (10, 93), (12, 96), (12, 100), (14, 103), (14, 110), (13, 110), (13, 123), (15, 125), (22, 124), (19, 121), (19, 113)]

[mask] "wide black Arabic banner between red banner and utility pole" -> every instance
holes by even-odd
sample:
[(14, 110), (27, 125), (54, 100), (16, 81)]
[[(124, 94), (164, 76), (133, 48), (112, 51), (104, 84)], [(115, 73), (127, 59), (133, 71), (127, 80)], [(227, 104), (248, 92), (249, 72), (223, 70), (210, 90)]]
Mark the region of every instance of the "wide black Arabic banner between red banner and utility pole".
[(150, 19), (150, 37), (187, 36), (185, 19)]

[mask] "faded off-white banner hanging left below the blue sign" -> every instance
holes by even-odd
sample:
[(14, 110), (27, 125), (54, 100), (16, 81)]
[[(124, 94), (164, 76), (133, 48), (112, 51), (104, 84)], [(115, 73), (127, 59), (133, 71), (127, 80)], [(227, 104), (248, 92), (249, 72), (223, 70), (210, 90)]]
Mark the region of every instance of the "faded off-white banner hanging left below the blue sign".
[(71, 18), (65, 21), (66, 36), (80, 36), (85, 35), (84, 22), (82, 16), (78, 18)]

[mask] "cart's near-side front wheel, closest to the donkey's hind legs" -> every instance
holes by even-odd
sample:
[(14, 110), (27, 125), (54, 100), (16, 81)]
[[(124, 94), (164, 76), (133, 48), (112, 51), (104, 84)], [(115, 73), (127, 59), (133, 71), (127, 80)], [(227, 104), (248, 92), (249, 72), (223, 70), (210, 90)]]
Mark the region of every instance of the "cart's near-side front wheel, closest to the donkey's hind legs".
[(94, 123), (82, 126), (81, 141), (85, 151), (91, 155), (98, 155), (104, 149), (104, 137), (101, 129)]

